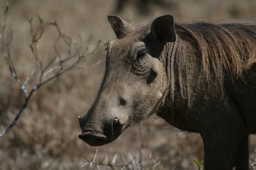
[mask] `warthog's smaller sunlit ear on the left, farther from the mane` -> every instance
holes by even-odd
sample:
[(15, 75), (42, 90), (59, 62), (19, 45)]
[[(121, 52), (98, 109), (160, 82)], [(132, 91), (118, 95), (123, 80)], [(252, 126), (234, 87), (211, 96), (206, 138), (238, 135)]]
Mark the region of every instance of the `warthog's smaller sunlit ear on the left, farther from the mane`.
[(124, 38), (127, 32), (132, 31), (134, 28), (130, 23), (115, 15), (108, 15), (108, 21), (115, 31), (117, 39)]

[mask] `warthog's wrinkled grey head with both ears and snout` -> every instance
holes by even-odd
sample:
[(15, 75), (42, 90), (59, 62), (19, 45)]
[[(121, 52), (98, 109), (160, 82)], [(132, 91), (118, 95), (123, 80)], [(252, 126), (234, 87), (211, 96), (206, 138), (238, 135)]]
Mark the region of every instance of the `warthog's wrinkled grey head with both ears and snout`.
[(117, 40), (107, 44), (99, 94), (79, 118), (79, 138), (91, 146), (114, 141), (125, 128), (156, 112), (168, 86), (162, 50), (176, 40), (171, 15), (139, 27), (117, 16), (108, 20)]

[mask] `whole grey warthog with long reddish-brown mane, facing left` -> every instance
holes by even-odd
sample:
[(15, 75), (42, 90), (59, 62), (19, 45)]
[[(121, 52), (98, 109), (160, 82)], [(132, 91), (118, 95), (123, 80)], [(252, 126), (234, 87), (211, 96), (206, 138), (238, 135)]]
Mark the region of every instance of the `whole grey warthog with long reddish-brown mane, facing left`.
[(133, 27), (108, 16), (117, 40), (106, 44), (106, 72), (79, 138), (114, 141), (153, 113), (199, 133), (204, 168), (248, 169), (256, 134), (256, 25), (175, 22), (164, 15)]

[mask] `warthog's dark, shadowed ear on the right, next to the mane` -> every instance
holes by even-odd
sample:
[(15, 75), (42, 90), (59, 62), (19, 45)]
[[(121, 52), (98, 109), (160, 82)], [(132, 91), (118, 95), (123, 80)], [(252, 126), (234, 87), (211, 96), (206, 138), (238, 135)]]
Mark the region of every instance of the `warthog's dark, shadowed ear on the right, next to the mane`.
[(172, 15), (164, 15), (156, 18), (150, 33), (157, 38), (160, 43), (175, 42), (176, 34)]

